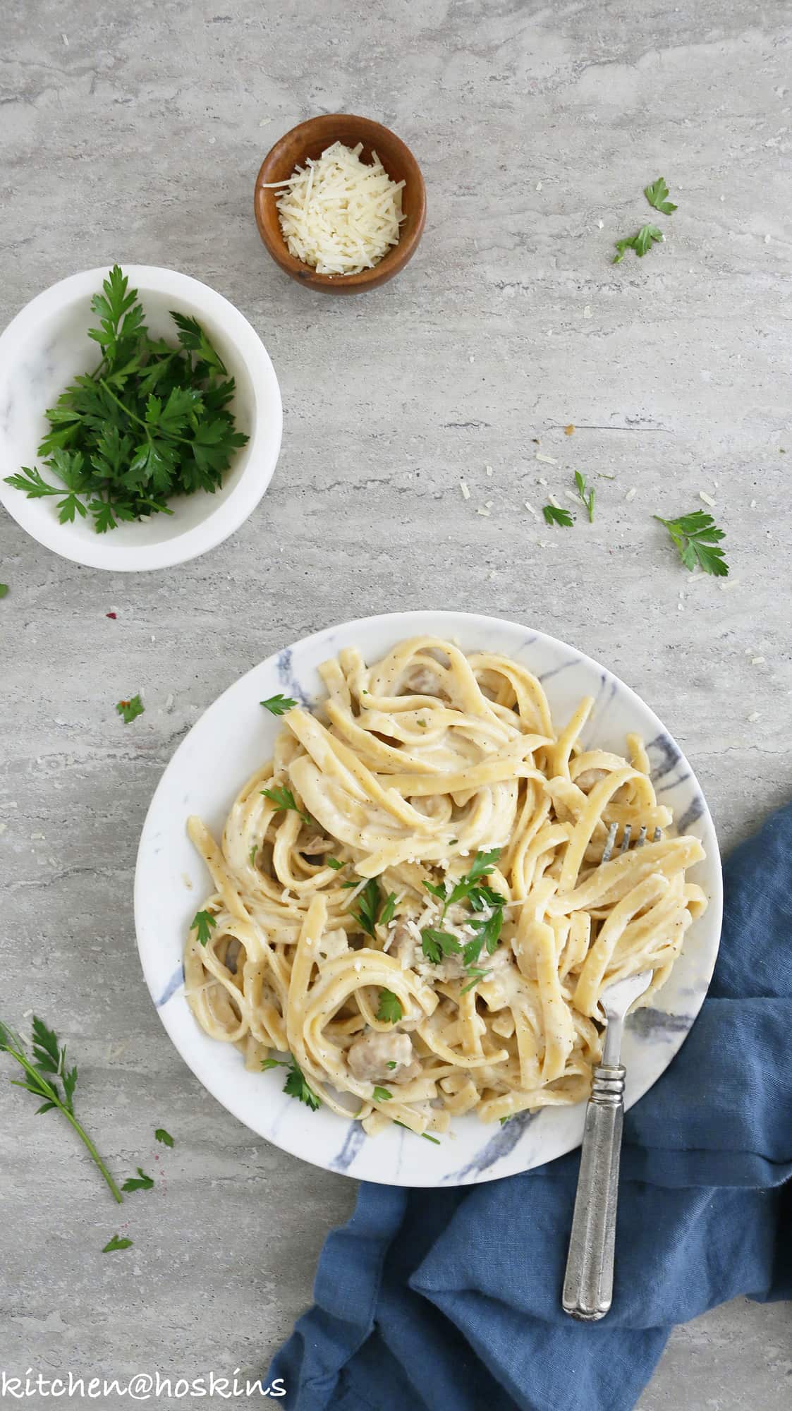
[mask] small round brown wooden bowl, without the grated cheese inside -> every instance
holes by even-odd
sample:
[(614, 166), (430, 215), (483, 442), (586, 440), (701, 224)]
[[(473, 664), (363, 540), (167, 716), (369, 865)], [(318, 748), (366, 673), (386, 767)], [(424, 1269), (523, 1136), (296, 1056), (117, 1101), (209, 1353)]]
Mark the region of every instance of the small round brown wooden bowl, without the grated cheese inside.
[[(280, 190), (266, 189), (265, 185), (272, 181), (286, 181), (296, 166), (304, 165), (307, 157), (314, 159), (321, 157), (331, 143), (344, 143), (345, 147), (362, 143), (361, 161), (371, 162), (373, 150), (390, 179), (404, 182), (402, 210), (407, 219), (399, 227), (399, 244), (393, 246), (372, 270), (362, 270), (361, 274), (317, 274), (302, 260), (295, 260), (280, 230), (276, 207)], [(293, 127), (266, 154), (255, 182), (254, 209), (261, 238), (272, 258), (292, 275), (292, 279), (307, 285), (309, 289), (321, 289), (327, 293), (359, 293), (392, 279), (413, 257), (424, 229), (426, 188), (416, 158), (396, 133), (382, 127), (380, 123), (372, 123), (368, 117), (327, 113)]]

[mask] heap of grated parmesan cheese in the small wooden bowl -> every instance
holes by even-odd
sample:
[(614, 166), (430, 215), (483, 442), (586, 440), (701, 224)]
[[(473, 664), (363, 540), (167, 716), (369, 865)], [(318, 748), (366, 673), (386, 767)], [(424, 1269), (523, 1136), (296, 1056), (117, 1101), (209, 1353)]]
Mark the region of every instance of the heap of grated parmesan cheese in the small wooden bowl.
[(362, 162), (362, 150), (333, 143), (287, 181), (268, 182), (285, 188), (278, 214), (289, 254), (317, 274), (359, 274), (399, 244), (404, 182), (390, 181), (373, 151)]

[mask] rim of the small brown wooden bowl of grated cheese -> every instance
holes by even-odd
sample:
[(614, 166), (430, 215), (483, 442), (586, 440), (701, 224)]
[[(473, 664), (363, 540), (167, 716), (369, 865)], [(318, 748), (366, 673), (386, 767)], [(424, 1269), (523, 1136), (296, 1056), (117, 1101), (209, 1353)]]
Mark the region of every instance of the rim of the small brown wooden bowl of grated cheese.
[[(289, 248), (286, 246), (286, 241), (283, 240), (283, 236), (280, 233), (280, 226), (278, 222), (276, 222), (278, 233), (275, 236), (271, 233), (269, 227), (264, 222), (262, 205), (264, 200), (266, 199), (266, 178), (269, 175), (271, 168), (278, 161), (280, 148), (289, 138), (295, 137), (296, 134), (300, 134), (300, 137), (304, 138), (307, 144), (307, 141), (310, 141), (311, 133), (316, 131), (317, 124), (327, 124), (327, 123), (361, 124), (361, 141), (372, 147), (376, 147), (376, 134), (378, 133), (382, 134), (386, 147), (389, 147), (392, 151), (397, 150), (399, 154), (402, 155), (404, 165), (410, 171), (410, 178), (414, 182), (414, 189), (417, 195), (417, 216), (409, 236), (406, 236), (404, 240), (399, 238), (399, 244), (393, 246), (392, 250), (389, 250), (388, 254), (382, 257), (379, 264), (375, 264), (371, 270), (361, 270), (359, 274), (347, 274), (347, 275), (317, 274), (316, 270), (311, 270), (310, 265), (303, 264), (302, 260), (296, 260), (295, 255), (289, 253)], [(337, 141), (338, 138), (331, 138), (328, 134), (327, 137), (328, 145), (334, 140)], [(388, 164), (379, 148), (378, 148), (378, 157), (382, 161), (382, 165), (388, 169)], [(297, 158), (296, 161), (299, 162), (303, 159), (304, 158)], [(272, 192), (272, 195), (275, 196), (275, 192)], [(373, 117), (362, 117), (358, 113), (318, 113), (314, 117), (306, 119), (303, 123), (296, 123), (295, 127), (290, 127), (287, 133), (283, 133), (283, 135), (279, 137), (278, 141), (273, 143), (272, 147), (269, 148), (266, 157), (264, 158), (258, 169), (258, 175), (255, 179), (254, 214), (255, 214), (255, 223), (258, 226), (258, 233), (268, 253), (287, 275), (290, 275), (293, 279), (297, 281), (297, 284), (303, 284), (309, 289), (318, 289), (326, 293), (355, 293), (355, 292), (362, 292), (364, 289), (376, 288), (376, 285), (385, 284), (388, 279), (392, 279), (393, 275), (399, 274), (399, 271), (403, 270), (407, 261), (412, 260), (412, 257), (414, 255), (426, 226), (426, 182), (414, 152), (407, 147), (403, 138), (400, 138), (399, 134), (395, 133), (390, 127), (386, 127), (383, 123), (378, 123), (376, 119)]]

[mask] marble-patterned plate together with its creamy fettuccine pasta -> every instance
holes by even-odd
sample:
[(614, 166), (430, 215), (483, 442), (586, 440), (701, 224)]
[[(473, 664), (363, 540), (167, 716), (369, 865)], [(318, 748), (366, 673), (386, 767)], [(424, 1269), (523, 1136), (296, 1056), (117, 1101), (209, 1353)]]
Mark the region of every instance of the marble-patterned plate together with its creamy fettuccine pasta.
[(283, 1150), (399, 1185), (578, 1146), (602, 991), (651, 968), (636, 1102), (720, 917), (705, 797), (648, 706), (464, 612), (328, 628), (242, 676), (168, 765), (135, 873), (145, 979), (204, 1086)]

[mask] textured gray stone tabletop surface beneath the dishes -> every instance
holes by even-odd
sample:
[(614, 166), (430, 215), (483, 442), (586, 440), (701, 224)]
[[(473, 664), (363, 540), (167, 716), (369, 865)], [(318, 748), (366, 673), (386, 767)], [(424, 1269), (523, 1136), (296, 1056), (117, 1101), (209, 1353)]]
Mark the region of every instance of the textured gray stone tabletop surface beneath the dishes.
[[(789, 796), (791, 18), (753, 0), (6, 0), (3, 322), (104, 261), (185, 270), (254, 322), (286, 419), (258, 511), (179, 569), (80, 569), (0, 514), (3, 1013), (58, 1024), (116, 1171), (154, 1164), (155, 1125), (178, 1139), (117, 1216), (69, 1133), (0, 1084), (1, 1364), (259, 1367), (351, 1209), (349, 1182), (203, 1092), (134, 945), (155, 783), (252, 663), (390, 608), (519, 618), (654, 706), (723, 844)], [(413, 264), (352, 301), (280, 275), (251, 212), (266, 148), (323, 110), (395, 127), (428, 188)], [(660, 172), (668, 240), (613, 267)], [(523, 502), (543, 478), (562, 498), (576, 467), (595, 523), (537, 525)], [(651, 519), (699, 490), (726, 590), (691, 583)], [(124, 727), (135, 690), (147, 713)], [(134, 1250), (100, 1256), (120, 1222)], [(672, 1336), (641, 1411), (774, 1411), (788, 1333), (782, 1307), (710, 1312)]]

